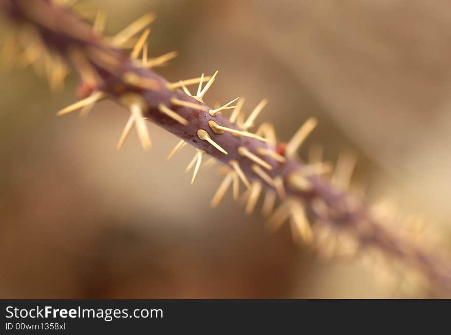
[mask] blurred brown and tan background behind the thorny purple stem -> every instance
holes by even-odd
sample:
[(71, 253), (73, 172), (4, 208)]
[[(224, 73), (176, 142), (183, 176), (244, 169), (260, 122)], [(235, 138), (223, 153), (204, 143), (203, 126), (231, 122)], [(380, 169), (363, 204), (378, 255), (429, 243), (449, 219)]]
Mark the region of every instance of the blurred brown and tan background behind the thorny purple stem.
[[(150, 54), (177, 50), (169, 80), (219, 75), (207, 102), (263, 97), (259, 121), (289, 140), (309, 116), (327, 160), (359, 154), (356, 181), (437, 227), (451, 217), (451, 3), (99, 1), (113, 34), (154, 11)], [(2, 18), (3, 20), (3, 18)], [(4, 40), (10, 28), (2, 26)], [(264, 230), (229, 194), (209, 207), (215, 169), (193, 186), (194, 150), (149, 125), (117, 152), (128, 114), (111, 102), (57, 118), (77, 78), (51, 94), (31, 69), (0, 72), (0, 298), (365, 298), (378, 288), (358, 259), (321, 259)], [(431, 223), (432, 225), (433, 223)], [(446, 229), (444, 230), (446, 232)], [(449, 235), (449, 234), (448, 234)], [(449, 238), (448, 238), (449, 240)]]

